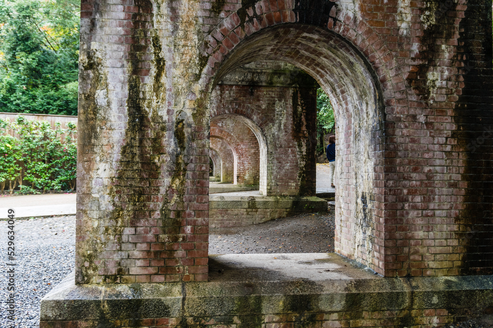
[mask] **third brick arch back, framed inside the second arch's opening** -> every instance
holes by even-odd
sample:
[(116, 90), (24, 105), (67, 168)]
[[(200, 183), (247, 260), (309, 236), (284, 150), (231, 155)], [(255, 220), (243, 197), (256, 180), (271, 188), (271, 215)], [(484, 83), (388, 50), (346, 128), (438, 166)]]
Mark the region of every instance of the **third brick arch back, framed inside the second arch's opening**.
[(258, 183), (259, 168), (256, 167), (256, 165), (251, 165), (250, 151), (246, 146), (244, 146), (242, 141), (240, 141), (234, 134), (216, 126), (211, 126), (211, 138), (222, 139), (231, 147), (234, 159), (234, 184), (243, 185)]

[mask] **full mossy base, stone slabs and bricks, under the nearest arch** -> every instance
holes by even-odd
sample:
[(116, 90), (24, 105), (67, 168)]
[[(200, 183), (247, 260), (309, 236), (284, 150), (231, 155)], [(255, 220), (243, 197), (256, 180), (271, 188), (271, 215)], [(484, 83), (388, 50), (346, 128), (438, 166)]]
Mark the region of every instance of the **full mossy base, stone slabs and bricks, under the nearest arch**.
[(41, 328), (440, 327), (491, 314), (493, 276), (383, 278), (339, 255), (209, 259), (209, 282), (74, 285), (41, 300)]

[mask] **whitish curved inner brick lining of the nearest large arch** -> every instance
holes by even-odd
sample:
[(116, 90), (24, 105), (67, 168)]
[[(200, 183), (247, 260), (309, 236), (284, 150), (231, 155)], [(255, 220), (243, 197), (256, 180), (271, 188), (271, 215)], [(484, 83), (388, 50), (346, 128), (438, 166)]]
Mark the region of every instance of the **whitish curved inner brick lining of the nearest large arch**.
[[(324, 42), (320, 42), (321, 39)], [(383, 104), (376, 73), (363, 56), (339, 36), (313, 26), (284, 24), (246, 38), (222, 62), (215, 63), (213, 85), (229, 72), (259, 60), (278, 60), (294, 65), (313, 76), (329, 95), (338, 121), (336, 144), (340, 159), (336, 170), (339, 186), (336, 191), (336, 251), (377, 269), (378, 261), (383, 258), (379, 253), (381, 232), (378, 231), (379, 204), (383, 201), (378, 188), (378, 181), (383, 179), (378, 174), (382, 165), (379, 150), (383, 144)], [(296, 77), (301, 79), (303, 75)], [(275, 138), (273, 134), (282, 129), (271, 126), (269, 135), (265, 132), (269, 120), (260, 121), (262, 115), (249, 114), (257, 119), (252, 121), (263, 129), (267, 140)], [(302, 112), (301, 116), (307, 114), (310, 115)], [(303, 116), (303, 120), (306, 117), (309, 116)], [(270, 124), (275, 124), (274, 121)], [(298, 163), (310, 156), (307, 149), (316, 145), (316, 140), (308, 137), (306, 134), (299, 138), (291, 154)], [(293, 166), (292, 169), (290, 176), (298, 177), (299, 168)], [(273, 175), (286, 174), (289, 170), (289, 165), (284, 165), (282, 170), (272, 168)], [(276, 178), (273, 180), (281, 180)], [(296, 182), (292, 179), (286, 188), (293, 188), (295, 193), (302, 192)]]

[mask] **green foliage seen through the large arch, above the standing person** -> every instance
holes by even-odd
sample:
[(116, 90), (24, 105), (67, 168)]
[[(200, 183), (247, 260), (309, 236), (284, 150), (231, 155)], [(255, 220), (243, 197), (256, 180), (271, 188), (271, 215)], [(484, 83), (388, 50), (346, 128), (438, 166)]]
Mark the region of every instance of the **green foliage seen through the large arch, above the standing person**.
[(317, 153), (324, 152), (323, 136), (334, 133), (334, 110), (329, 97), (322, 88), (317, 89)]

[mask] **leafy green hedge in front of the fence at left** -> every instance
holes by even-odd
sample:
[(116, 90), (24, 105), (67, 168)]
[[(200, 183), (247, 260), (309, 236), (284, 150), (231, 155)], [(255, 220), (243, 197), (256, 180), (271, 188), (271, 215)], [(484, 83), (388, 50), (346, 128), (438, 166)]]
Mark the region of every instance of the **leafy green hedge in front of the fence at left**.
[[(47, 121), (17, 116), (13, 122), (0, 118), (0, 188), (12, 193), (73, 190), (77, 161), (76, 126), (60, 122), (53, 130)], [(9, 134), (14, 131), (18, 137)], [(27, 183), (26, 183), (27, 182)], [(24, 184), (23, 184), (24, 183)]]

